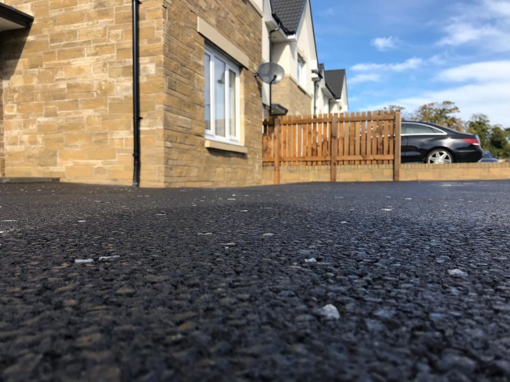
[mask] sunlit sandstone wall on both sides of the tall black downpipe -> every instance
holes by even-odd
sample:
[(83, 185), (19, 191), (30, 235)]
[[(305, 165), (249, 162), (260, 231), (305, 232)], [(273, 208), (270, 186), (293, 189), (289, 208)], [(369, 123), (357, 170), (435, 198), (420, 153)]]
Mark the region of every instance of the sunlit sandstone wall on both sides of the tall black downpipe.
[[(5, 175), (130, 184), (131, 0), (5, 0), (34, 15), (4, 32)], [(140, 7), (143, 185), (164, 184), (163, 13)]]

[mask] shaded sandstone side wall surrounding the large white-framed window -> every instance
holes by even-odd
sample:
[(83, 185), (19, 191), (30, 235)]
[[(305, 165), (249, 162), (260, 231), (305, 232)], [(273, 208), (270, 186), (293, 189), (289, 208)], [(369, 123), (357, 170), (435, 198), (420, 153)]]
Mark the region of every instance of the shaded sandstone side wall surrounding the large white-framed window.
[[(241, 186), (262, 176), (262, 95), (253, 74), (262, 57), (261, 16), (249, 2), (180, 0), (166, 7), (164, 65), (165, 184)], [(247, 54), (240, 73), (240, 119), (247, 154), (205, 147), (205, 38), (197, 17)]]

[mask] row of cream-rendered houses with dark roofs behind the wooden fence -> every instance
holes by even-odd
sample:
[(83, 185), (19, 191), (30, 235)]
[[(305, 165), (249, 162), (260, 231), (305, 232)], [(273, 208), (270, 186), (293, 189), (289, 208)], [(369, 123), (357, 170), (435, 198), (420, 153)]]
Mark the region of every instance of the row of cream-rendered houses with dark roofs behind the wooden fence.
[[(346, 84), (343, 92), (335, 93), (318, 63), (310, 0), (264, 0), (263, 8), (263, 60), (285, 70), (282, 81), (272, 86), (271, 96), (269, 86), (263, 86), (265, 115), (269, 103), (273, 111), (283, 109), (290, 115), (347, 111)], [(336, 85), (338, 76), (330, 77)]]

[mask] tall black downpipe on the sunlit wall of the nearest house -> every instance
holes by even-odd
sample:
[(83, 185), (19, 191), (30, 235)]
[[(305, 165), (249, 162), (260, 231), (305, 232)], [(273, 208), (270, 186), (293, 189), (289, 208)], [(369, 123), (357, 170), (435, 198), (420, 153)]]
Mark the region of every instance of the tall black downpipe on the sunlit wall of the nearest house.
[(133, 0), (133, 187), (140, 187), (140, 72), (138, 8), (142, 4)]

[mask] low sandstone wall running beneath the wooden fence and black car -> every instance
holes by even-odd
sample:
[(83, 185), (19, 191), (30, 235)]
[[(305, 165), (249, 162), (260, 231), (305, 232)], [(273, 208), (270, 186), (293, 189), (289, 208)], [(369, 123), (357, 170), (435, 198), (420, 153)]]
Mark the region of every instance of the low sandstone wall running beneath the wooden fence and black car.
[[(330, 166), (281, 166), (280, 183), (329, 182)], [(501, 180), (510, 179), (510, 162), (400, 165), (401, 181)], [(393, 165), (337, 166), (338, 182), (388, 182)], [(263, 184), (274, 184), (274, 167), (263, 168)]]

